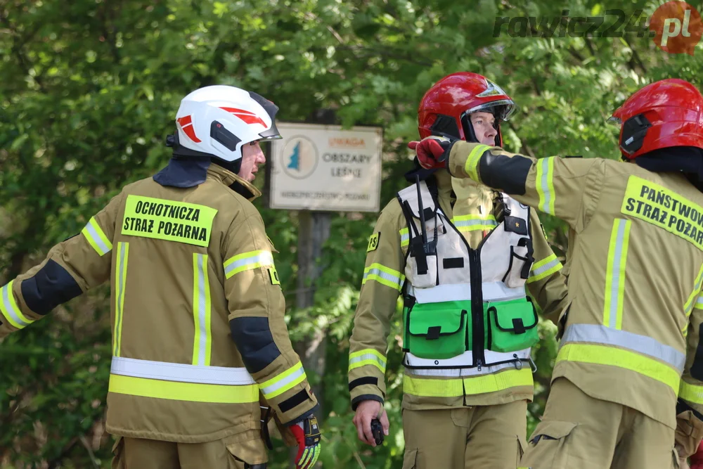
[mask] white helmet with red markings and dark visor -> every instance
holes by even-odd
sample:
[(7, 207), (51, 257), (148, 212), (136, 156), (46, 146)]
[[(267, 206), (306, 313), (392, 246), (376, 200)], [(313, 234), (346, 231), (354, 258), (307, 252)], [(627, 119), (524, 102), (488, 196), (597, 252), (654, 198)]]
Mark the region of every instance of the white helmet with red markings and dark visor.
[(281, 138), (276, 112), (271, 101), (235, 86), (196, 89), (181, 100), (176, 113), (178, 145), (195, 155), (238, 162), (243, 145)]

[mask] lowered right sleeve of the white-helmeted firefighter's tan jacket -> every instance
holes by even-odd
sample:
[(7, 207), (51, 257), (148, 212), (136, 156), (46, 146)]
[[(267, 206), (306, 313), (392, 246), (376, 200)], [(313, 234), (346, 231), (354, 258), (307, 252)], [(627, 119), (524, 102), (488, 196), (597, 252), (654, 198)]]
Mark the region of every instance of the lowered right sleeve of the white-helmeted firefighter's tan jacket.
[(296, 423), (315, 411), (317, 399), (290, 343), (271, 243), (253, 205), (234, 219), (224, 253), (232, 340), (281, 423)]

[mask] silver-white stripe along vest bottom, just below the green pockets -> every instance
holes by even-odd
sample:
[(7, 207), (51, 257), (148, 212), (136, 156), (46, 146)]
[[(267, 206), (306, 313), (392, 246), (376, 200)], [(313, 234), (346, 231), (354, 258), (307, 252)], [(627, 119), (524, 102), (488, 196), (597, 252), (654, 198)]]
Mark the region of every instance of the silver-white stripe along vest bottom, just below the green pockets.
[[(491, 350), (484, 350), (484, 358), (486, 363), (498, 363), (500, 361), (515, 360), (519, 359), (529, 359), (531, 349), (522, 349), (517, 352), (492, 352)], [(517, 357), (516, 357), (517, 355)], [(453, 356), (451, 359), (421, 359), (417, 356), (406, 353), (403, 364), (406, 366), (406, 373), (412, 373), (415, 375), (423, 376), (452, 376), (458, 378), (459, 376), (471, 376), (471, 375), (484, 375), (486, 373), (492, 373), (493, 371), (498, 371), (503, 368), (509, 368), (510, 366), (515, 366), (514, 363), (507, 364), (508, 366), (493, 365), (493, 366), (482, 366), (481, 371), (478, 368), (458, 368), (460, 366), (471, 366), (473, 364), (473, 354), (472, 352), (464, 352), (463, 354)], [(422, 366), (424, 369), (418, 370), (413, 368), (408, 368), (407, 366)], [(454, 369), (446, 369), (444, 367), (456, 367)], [(440, 367), (439, 369), (435, 367)], [(435, 369), (427, 369), (435, 368)], [(444, 369), (442, 369), (444, 368)], [(412, 370), (412, 371), (410, 371)], [(489, 371), (485, 371), (489, 370)]]

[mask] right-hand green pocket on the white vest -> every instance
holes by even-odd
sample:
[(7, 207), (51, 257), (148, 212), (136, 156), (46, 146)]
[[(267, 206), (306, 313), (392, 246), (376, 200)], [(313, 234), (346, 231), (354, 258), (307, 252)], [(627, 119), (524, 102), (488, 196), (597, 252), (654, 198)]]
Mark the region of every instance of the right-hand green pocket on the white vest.
[(539, 341), (537, 311), (527, 298), (486, 303), (490, 323), (491, 350), (516, 352)]

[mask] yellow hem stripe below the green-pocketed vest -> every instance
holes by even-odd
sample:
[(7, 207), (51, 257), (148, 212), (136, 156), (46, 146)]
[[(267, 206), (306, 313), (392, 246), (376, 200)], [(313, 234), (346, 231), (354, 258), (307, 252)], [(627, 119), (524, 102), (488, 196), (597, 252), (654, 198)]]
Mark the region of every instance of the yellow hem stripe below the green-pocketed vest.
[(411, 375), (404, 375), (403, 377), (403, 392), (422, 397), (460, 397), (465, 394), (482, 394), (484, 392), (506, 390), (510, 387), (532, 385), (534, 383), (530, 368), (448, 380), (415, 378)]

